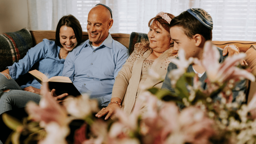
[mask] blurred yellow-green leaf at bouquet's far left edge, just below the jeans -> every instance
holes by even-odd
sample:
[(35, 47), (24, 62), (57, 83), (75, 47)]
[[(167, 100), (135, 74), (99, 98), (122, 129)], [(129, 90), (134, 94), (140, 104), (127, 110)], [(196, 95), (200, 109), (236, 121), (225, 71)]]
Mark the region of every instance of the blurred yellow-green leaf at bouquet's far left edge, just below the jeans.
[(12, 117), (6, 113), (3, 113), (2, 118), (6, 126), (12, 129), (13, 131), (17, 131), (18, 127), (22, 127), (22, 123), (15, 117)]

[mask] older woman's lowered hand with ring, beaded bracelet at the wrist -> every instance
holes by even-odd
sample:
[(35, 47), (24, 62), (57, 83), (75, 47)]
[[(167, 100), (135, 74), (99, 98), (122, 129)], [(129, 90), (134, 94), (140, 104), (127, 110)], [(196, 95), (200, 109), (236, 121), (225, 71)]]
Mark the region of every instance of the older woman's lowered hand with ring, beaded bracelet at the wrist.
[[(112, 101), (118, 101), (118, 102), (122, 102), (122, 100), (120, 98), (112, 98)], [(116, 109), (120, 109), (119, 104), (113, 103), (109, 106), (107, 106), (106, 108), (102, 108), (95, 116), (100, 118), (104, 115), (106, 115), (105, 120), (107, 120), (109, 117), (111, 117), (113, 114), (115, 114)]]

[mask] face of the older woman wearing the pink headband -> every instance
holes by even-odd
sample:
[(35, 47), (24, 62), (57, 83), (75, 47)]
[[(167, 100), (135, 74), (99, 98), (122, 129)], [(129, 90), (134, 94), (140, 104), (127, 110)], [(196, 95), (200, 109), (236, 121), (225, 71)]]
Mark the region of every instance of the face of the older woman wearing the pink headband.
[[(158, 22), (157, 22), (158, 23)], [(164, 52), (170, 46), (170, 33), (165, 30), (159, 23), (158, 26), (152, 24), (147, 34), (149, 40), (149, 47), (156, 52)]]

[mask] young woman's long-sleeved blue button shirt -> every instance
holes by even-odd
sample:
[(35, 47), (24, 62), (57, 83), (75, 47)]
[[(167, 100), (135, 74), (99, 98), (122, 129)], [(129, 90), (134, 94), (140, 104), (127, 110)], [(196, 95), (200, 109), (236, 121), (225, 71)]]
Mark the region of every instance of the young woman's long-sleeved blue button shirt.
[[(25, 57), (20, 59), (18, 63), (6, 68), (9, 69), (10, 76), (13, 79), (26, 74), (32, 66), (44, 73), (48, 78), (61, 76), (65, 59), (59, 59), (59, 52), (60, 47), (55, 44), (55, 41), (43, 39), (42, 42), (29, 49)], [(28, 81), (21, 88), (28, 86), (40, 88), (42, 85), (34, 79)]]

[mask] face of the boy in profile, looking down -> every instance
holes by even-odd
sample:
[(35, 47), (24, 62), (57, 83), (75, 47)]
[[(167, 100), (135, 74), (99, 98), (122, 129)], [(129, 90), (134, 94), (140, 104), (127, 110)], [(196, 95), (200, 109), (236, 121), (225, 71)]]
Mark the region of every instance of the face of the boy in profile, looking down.
[(189, 38), (185, 33), (185, 29), (181, 26), (173, 26), (170, 28), (170, 36), (174, 42), (173, 49), (179, 50), (184, 49), (186, 53), (186, 59), (189, 57), (197, 57), (199, 58), (199, 54), (201, 54), (201, 50), (196, 46), (196, 41), (193, 38)]

